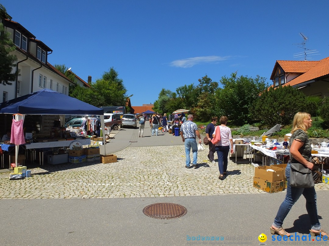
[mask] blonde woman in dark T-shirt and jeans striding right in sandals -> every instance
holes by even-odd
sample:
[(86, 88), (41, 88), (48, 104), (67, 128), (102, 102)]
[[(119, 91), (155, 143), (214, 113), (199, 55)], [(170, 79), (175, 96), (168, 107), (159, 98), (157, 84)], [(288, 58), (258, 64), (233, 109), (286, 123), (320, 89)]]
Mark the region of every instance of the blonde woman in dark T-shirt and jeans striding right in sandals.
[(278, 234), (280, 236), (290, 236), (290, 233), (287, 233), (283, 228), (283, 220), (288, 215), (291, 207), (298, 198), (303, 195), (306, 199), (306, 210), (310, 217), (311, 221), (311, 236), (327, 236), (328, 234), (321, 229), (321, 225), (317, 216), (316, 208), (316, 192), (313, 187), (302, 188), (295, 187), (290, 185), (290, 166), (291, 163), (300, 163), (305, 168), (313, 168), (313, 163), (311, 160), (311, 144), (310, 140), (307, 137), (307, 129), (312, 126), (312, 119), (309, 113), (298, 112), (293, 118), (291, 137), (289, 140), (290, 145), (290, 154), (291, 160), (288, 162), (286, 167), (286, 178), (288, 181), (287, 184), (287, 193), (286, 198), (279, 207), (278, 213), (274, 219), (272, 226), (270, 227), (271, 234)]

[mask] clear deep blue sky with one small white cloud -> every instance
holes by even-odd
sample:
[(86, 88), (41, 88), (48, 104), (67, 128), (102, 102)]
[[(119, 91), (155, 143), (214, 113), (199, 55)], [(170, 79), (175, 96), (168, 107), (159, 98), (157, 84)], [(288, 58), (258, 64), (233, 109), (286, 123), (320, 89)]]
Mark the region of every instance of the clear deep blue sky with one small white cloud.
[(153, 103), (162, 88), (175, 92), (206, 74), (269, 77), (276, 60), (306, 48), (329, 56), (329, 1), (13, 1), (3, 0), (13, 21), (53, 50), (87, 81), (111, 67), (132, 106)]

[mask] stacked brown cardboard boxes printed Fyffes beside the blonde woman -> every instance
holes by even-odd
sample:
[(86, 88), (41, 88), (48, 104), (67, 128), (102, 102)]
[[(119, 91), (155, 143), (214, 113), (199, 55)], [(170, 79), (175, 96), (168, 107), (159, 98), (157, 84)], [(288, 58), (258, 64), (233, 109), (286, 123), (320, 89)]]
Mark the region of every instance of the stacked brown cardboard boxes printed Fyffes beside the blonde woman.
[[(255, 188), (268, 193), (283, 191), (284, 170), (273, 166), (275, 165), (255, 168), (255, 176), (253, 180), (253, 186)], [(269, 169), (271, 169), (271, 171)]]

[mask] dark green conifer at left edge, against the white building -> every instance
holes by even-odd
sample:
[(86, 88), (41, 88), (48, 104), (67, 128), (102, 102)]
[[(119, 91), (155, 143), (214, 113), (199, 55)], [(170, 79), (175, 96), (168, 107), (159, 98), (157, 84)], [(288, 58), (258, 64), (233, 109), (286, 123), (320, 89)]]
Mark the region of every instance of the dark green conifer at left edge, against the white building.
[[(3, 9), (2, 9), (3, 8)], [(7, 12), (3, 12), (4, 7), (0, 6), (1, 16)], [(5, 32), (3, 24), (0, 23), (0, 83), (3, 85), (12, 85), (12, 82), (16, 79), (19, 71), (12, 72), (13, 68), (16, 66), (15, 62), (17, 57), (11, 52), (15, 51), (16, 48), (13, 41), (9, 38), (10, 33)]]

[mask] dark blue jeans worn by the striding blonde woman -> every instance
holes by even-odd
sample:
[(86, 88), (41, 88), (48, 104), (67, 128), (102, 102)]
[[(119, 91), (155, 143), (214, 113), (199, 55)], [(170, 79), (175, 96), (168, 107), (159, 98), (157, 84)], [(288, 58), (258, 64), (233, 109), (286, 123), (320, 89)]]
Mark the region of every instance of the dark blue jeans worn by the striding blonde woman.
[(316, 209), (316, 193), (314, 187), (312, 188), (297, 188), (290, 186), (290, 162), (288, 162), (286, 167), (286, 178), (288, 181), (287, 185), (287, 194), (284, 201), (281, 203), (278, 213), (274, 219), (273, 226), (281, 227), (283, 224), (283, 220), (288, 215), (291, 207), (298, 198), (303, 195), (306, 199), (306, 211), (310, 217), (311, 221), (311, 229), (320, 230), (321, 225), (319, 219), (317, 217), (317, 209)]

